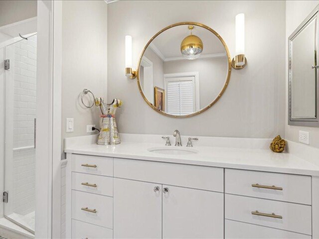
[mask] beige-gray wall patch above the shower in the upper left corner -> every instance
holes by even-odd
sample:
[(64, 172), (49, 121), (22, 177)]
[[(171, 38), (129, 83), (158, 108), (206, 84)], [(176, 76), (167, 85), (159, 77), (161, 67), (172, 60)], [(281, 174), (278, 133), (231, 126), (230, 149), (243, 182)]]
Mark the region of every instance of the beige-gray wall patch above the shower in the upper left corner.
[(36, 16), (36, 0), (0, 0), (0, 26)]

